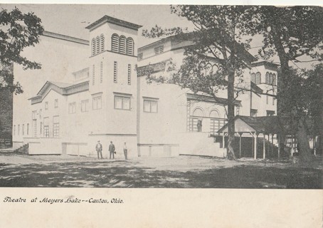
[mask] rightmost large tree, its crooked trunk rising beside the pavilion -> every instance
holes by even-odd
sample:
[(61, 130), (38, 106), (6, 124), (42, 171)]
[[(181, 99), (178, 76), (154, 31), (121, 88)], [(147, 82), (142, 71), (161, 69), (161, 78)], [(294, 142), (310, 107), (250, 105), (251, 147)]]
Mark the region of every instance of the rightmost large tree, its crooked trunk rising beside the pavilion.
[[(300, 145), (302, 160), (309, 160), (309, 142), (307, 140), (306, 116), (300, 113), (296, 103), (290, 100), (289, 109), (286, 103), (286, 90), (296, 86), (298, 79), (290, 67), (292, 61), (300, 62), (300, 57), (309, 56), (309, 61), (322, 61), (322, 38), (323, 38), (323, 8), (318, 6), (258, 6), (253, 14), (245, 20), (253, 23), (243, 26), (244, 33), (255, 35), (261, 33), (264, 37), (263, 48), (260, 56), (272, 56), (277, 53), (280, 58), (281, 73), (278, 78), (278, 110), (280, 115), (291, 115), (297, 123), (297, 142)], [(300, 83), (300, 81), (298, 82)], [(289, 90), (292, 92), (291, 90)], [(288, 103), (288, 100), (287, 100)]]

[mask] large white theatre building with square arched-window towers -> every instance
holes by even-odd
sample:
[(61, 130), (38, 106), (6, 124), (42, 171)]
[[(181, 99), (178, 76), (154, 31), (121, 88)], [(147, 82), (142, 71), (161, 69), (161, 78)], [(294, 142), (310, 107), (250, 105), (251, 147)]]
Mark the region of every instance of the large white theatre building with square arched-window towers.
[[(124, 142), (129, 156), (179, 154), (226, 156), (213, 137), (226, 124), (226, 90), (219, 100), (170, 84), (147, 83), (136, 68), (166, 73), (171, 59), (180, 66), (184, 48), (194, 45), (171, 36), (138, 48), (141, 26), (103, 16), (87, 27), (90, 42), (44, 33), (26, 55), (41, 71), (21, 71), (26, 93), (14, 96), (14, 142), (29, 154), (95, 155), (100, 140), (117, 156)], [(253, 60), (246, 52), (247, 90), (235, 101), (235, 114), (276, 115), (277, 65)], [(63, 60), (62, 60), (63, 58)], [(28, 79), (26, 79), (28, 78)]]

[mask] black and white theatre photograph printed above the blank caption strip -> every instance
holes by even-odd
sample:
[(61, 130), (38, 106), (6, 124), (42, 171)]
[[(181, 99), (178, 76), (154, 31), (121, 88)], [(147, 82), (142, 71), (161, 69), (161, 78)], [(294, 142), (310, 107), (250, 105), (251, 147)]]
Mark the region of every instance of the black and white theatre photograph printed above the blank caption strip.
[(322, 23), (270, 2), (0, 4), (0, 188), (322, 190)]

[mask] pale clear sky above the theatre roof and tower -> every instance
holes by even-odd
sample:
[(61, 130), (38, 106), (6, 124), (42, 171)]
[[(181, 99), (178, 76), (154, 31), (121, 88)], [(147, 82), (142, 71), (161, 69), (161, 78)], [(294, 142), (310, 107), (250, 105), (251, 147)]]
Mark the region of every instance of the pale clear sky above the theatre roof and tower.
[[(198, 1), (198, 4), (203, 2), (205, 3), (207, 1)], [(261, 3), (261, 1), (258, 2), (258, 4)], [(281, 0), (280, 4), (284, 4), (285, 2), (287, 3), (286, 0)], [(293, 2), (297, 4), (297, 0)], [(238, 3), (254, 4), (253, 1), (238, 1)], [(315, 4), (315, 1), (309, 0), (307, 1), (307, 4)], [(162, 28), (171, 28), (174, 26), (188, 27), (190, 30), (194, 28), (186, 19), (171, 14), (170, 6), (166, 4), (0, 4), (1, 8), (9, 10), (14, 9), (15, 6), (23, 12), (34, 12), (41, 18), (46, 31), (61, 33), (66, 36), (73, 36), (86, 40), (88, 40), (89, 33), (88, 29), (85, 29), (85, 27), (104, 15), (142, 25), (142, 28), (139, 29), (139, 34), (141, 34), (142, 29), (150, 29), (155, 25), (162, 26)], [(147, 38), (139, 36), (138, 41), (139, 46), (144, 46), (155, 40), (147, 40)], [(251, 46), (262, 46), (261, 37), (253, 38)], [(257, 54), (257, 52), (258, 48), (250, 49), (250, 53), (253, 55)], [(275, 63), (278, 63), (279, 61), (277, 57), (272, 60)], [(309, 63), (297, 63), (297, 65), (301, 68), (310, 68)]]

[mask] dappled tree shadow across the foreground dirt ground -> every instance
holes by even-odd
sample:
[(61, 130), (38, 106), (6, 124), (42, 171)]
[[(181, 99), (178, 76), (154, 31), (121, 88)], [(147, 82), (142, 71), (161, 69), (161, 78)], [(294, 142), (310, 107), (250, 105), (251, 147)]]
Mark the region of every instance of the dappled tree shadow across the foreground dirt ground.
[(0, 187), (156, 187), (322, 189), (322, 170), (237, 165), (187, 172), (137, 162), (0, 164)]

